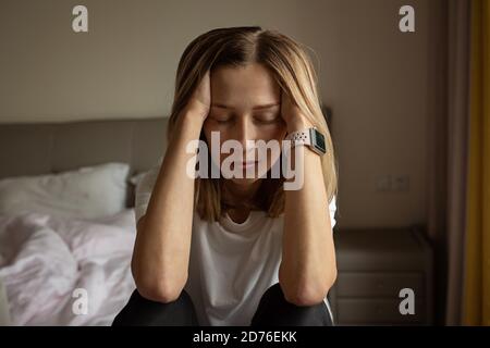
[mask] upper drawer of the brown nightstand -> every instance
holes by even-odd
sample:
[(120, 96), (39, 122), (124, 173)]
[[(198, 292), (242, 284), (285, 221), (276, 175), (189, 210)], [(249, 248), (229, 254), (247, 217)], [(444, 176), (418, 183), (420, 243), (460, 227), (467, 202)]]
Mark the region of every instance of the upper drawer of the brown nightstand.
[(403, 288), (413, 289), (416, 299), (426, 295), (424, 275), (417, 272), (342, 272), (338, 275), (335, 287), (339, 297), (397, 298)]

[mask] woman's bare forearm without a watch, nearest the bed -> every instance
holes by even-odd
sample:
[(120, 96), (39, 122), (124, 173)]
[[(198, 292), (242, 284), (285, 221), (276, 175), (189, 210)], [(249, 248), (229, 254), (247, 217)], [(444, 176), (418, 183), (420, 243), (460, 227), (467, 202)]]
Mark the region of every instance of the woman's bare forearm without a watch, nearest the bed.
[(192, 115), (179, 119), (168, 146), (133, 253), (136, 285), (158, 300), (179, 296), (187, 279), (194, 210), (194, 178), (186, 175), (189, 141), (199, 138), (201, 124)]

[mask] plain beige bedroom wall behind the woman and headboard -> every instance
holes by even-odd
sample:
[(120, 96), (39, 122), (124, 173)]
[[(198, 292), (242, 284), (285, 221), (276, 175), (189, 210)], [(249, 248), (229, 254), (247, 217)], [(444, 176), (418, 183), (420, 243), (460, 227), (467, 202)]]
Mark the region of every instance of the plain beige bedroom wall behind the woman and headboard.
[[(85, 4), (89, 33), (71, 29)], [(416, 33), (397, 29), (403, 4)], [(333, 110), (340, 226), (426, 220), (429, 1), (14, 1), (0, 2), (0, 122), (168, 114), (185, 46), (219, 26), (278, 28), (315, 50)], [(409, 191), (377, 192), (382, 175)]]

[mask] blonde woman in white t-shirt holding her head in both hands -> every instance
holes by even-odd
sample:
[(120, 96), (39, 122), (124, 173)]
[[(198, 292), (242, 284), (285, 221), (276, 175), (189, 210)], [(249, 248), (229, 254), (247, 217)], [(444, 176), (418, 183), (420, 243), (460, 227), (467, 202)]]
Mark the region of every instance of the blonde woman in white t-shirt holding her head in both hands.
[[(336, 171), (315, 78), (298, 44), (260, 27), (210, 30), (185, 49), (166, 156), (136, 194), (137, 290), (114, 325), (332, 324)], [(247, 140), (293, 136), (302, 151), (291, 151), (292, 167), (303, 163), (304, 177), (285, 190), (291, 177), (264, 175), (284, 158), (249, 160), (257, 149)], [(256, 175), (188, 175), (198, 139), (219, 153), (206, 153), (219, 169), (229, 156), (221, 146), (241, 145), (243, 160), (230, 167)]]

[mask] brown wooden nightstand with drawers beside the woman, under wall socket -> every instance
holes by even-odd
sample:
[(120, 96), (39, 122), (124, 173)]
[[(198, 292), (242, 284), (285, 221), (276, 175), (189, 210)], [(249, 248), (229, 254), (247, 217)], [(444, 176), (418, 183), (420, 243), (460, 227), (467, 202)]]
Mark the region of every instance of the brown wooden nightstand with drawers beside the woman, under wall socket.
[[(329, 293), (335, 325), (431, 325), (432, 250), (420, 228), (335, 229), (338, 278)], [(400, 290), (414, 290), (402, 315)]]

